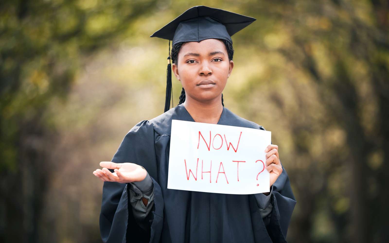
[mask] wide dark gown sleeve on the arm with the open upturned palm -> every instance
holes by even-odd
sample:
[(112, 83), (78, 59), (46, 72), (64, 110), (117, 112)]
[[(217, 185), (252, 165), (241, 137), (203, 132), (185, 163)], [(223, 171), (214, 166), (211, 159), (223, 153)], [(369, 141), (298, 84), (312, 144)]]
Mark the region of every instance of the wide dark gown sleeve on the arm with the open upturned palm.
[[(129, 203), (128, 183), (104, 182), (100, 212), (100, 234), (104, 243), (158, 242), (163, 226), (163, 198), (158, 184), (154, 147), (154, 128), (151, 122), (141, 121), (124, 136), (112, 162), (130, 162), (143, 166), (151, 177), (154, 205), (147, 215), (149, 227), (142, 229)], [(113, 172), (113, 170), (110, 170)]]

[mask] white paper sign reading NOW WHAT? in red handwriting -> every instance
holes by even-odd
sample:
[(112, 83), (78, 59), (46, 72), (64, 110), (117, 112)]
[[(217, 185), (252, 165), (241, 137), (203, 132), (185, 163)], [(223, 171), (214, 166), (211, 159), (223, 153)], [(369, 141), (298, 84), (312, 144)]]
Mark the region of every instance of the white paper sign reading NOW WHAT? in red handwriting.
[(269, 192), (265, 148), (271, 132), (172, 120), (168, 189), (255, 194)]

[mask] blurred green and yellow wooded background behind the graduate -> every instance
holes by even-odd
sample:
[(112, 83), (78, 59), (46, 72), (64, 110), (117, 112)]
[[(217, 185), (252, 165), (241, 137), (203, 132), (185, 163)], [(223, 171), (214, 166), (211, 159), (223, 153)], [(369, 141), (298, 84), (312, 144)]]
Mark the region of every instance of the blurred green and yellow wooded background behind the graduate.
[(388, 242), (386, 0), (2, 0), (0, 241), (101, 242), (92, 172), (163, 113), (168, 40), (149, 36), (194, 5), (257, 19), (224, 105), (279, 145), (288, 242)]

